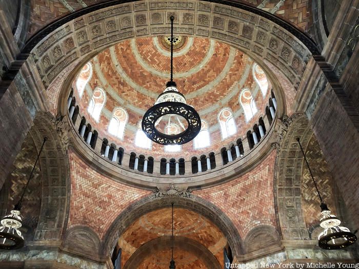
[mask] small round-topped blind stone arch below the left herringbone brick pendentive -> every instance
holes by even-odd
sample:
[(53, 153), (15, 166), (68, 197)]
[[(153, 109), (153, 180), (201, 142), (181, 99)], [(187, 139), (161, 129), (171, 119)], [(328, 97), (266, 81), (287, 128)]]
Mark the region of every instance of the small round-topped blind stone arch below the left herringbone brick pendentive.
[(71, 255), (85, 256), (90, 260), (104, 262), (99, 256), (100, 247), (101, 242), (91, 228), (75, 226), (66, 232), (60, 249)]

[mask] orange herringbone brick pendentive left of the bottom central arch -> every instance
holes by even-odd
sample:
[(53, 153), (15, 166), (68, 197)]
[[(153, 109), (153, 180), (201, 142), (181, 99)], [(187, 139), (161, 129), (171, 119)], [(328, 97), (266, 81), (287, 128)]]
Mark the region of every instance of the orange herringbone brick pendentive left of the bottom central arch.
[(71, 149), (69, 159), (71, 205), (68, 229), (86, 225), (101, 239), (127, 206), (152, 193), (128, 187), (99, 174)]

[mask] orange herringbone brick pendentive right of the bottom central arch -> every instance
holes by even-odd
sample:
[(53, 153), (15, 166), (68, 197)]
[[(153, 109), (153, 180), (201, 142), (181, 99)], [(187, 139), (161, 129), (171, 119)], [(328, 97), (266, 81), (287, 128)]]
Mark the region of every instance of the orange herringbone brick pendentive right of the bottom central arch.
[(230, 182), (193, 194), (218, 206), (244, 238), (257, 225), (276, 227), (274, 212), (275, 151), (249, 173)]

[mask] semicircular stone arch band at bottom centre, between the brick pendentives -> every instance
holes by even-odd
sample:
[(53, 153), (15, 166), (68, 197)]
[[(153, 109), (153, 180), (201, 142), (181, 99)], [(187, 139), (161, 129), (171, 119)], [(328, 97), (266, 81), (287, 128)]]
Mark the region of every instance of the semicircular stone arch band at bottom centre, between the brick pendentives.
[(212, 203), (193, 195), (190, 197), (165, 196), (162, 198), (156, 198), (155, 195), (151, 195), (131, 204), (116, 217), (102, 239), (102, 255), (111, 255), (118, 238), (135, 220), (151, 211), (169, 208), (171, 202), (174, 202), (175, 208), (191, 210), (211, 220), (227, 238), (233, 256), (243, 254), (242, 238), (236, 227), (225, 213)]

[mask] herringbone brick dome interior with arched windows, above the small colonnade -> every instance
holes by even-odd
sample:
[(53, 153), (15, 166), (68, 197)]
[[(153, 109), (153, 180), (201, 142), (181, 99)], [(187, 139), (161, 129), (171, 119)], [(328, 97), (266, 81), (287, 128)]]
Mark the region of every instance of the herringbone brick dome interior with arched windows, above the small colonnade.
[[(153, 157), (190, 159), (244, 139), (265, 115), (270, 81), (248, 55), (209, 38), (176, 37), (173, 80), (201, 117), (202, 129), (181, 146), (149, 140), (141, 120), (170, 78), (167, 36), (129, 39), (93, 57), (73, 81), (79, 114), (99, 138), (107, 138), (127, 152)], [(167, 39), (167, 40), (166, 40)], [(181, 133), (181, 117), (164, 116), (156, 128)]]

